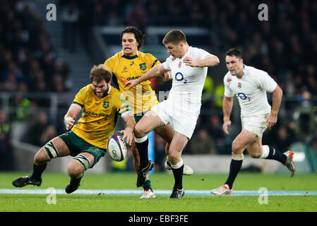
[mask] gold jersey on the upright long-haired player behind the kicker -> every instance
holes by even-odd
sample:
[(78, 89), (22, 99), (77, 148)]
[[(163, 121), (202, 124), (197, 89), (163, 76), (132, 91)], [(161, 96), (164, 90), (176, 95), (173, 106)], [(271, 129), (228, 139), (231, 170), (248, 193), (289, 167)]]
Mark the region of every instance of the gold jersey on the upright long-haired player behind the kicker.
[(158, 104), (155, 91), (152, 90), (150, 81), (143, 81), (131, 88), (124, 88), (124, 84), (131, 79), (136, 79), (160, 64), (152, 54), (138, 52), (136, 56), (128, 57), (123, 52), (118, 52), (104, 62), (104, 66), (112, 71), (112, 81), (120, 92), (126, 97), (133, 114), (146, 112)]

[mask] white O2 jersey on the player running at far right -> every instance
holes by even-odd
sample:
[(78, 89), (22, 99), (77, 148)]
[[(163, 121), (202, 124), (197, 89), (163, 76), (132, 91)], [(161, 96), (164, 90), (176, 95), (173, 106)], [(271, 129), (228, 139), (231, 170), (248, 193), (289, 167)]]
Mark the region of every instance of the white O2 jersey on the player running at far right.
[(241, 79), (228, 71), (223, 82), (226, 97), (237, 95), (241, 116), (270, 113), (266, 92), (273, 93), (277, 83), (265, 71), (244, 64), (244, 76)]

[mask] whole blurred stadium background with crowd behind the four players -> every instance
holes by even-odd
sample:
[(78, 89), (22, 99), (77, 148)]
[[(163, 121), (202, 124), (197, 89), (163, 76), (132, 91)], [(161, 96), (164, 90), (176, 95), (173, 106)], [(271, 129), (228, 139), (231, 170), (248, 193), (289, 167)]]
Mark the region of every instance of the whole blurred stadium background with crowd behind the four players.
[[(268, 5), (268, 20), (258, 20), (261, 3)], [(47, 20), (48, 4), (56, 6), (56, 20)], [(225, 52), (241, 47), (245, 64), (267, 71), (284, 92), (277, 124), (265, 131), (263, 143), (292, 149), (297, 172), (316, 173), (316, 15), (317, 2), (309, 0), (0, 0), (0, 170), (32, 170), (37, 150), (65, 132), (64, 114), (90, 83), (92, 65), (120, 51), (121, 30), (134, 25), (146, 35), (141, 51), (160, 61), (168, 57), (162, 37), (175, 28), (189, 45), (220, 58), (220, 66), (208, 70), (201, 116), (183, 153), (195, 172), (228, 170), (241, 124), (235, 100), (231, 134), (222, 131), (222, 78)], [(157, 94), (170, 87), (152, 81)], [(156, 171), (164, 170), (164, 147), (155, 136)], [(66, 172), (68, 161), (52, 160), (47, 172)], [(277, 162), (248, 156), (243, 170), (287, 173)], [(114, 164), (104, 157), (90, 171), (133, 171), (132, 159)]]

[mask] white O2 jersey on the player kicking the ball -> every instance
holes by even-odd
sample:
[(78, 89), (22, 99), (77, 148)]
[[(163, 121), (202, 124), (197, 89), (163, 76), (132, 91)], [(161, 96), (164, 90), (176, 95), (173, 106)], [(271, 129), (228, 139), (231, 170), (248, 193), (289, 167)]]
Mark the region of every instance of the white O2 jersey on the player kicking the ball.
[(183, 62), (185, 57), (191, 57), (193, 60), (205, 59), (212, 54), (203, 49), (189, 47), (188, 52), (181, 58), (168, 57), (163, 63), (166, 70), (172, 72), (172, 88), (169, 91), (168, 100), (173, 99), (176, 105), (193, 107), (196, 110), (201, 109), (201, 94), (203, 85), (207, 76), (208, 67), (186, 66)]

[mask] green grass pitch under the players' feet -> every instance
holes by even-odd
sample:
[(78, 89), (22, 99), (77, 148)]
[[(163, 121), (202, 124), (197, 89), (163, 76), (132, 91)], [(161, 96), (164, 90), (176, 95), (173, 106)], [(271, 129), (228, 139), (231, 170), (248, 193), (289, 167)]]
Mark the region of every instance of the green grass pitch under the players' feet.
[[(18, 190), (11, 182), (25, 172), (0, 173), (0, 189)], [(210, 190), (225, 182), (227, 174), (193, 174), (184, 176), (185, 196), (171, 200), (168, 195), (140, 199), (140, 195), (79, 195), (56, 194), (56, 204), (47, 204), (48, 194), (0, 194), (0, 212), (316, 212), (317, 196), (268, 196), (267, 204), (258, 202), (259, 196), (193, 196), (187, 190)], [(65, 189), (67, 174), (43, 174), (40, 187), (25, 189)], [(151, 177), (153, 189), (172, 189), (172, 174), (155, 173)], [(234, 184), (237, 191), (317, 191), (317, 174), (256, 174), (241, 173)], [(24, 188), (23, 188), (24, 189)], [(79, 189), (137, 189), (135, 173), (90, 174), (83, 177)]]

